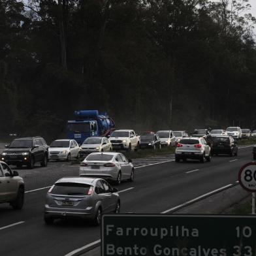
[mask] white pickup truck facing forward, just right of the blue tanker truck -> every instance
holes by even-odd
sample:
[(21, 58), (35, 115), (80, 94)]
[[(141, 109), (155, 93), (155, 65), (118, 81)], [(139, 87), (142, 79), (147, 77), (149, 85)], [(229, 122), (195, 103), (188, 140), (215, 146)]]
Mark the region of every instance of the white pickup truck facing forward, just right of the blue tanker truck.
[(137, 150), (140, 148), (140, 136), (133, 130), (116, 130), (109, 137), (114, 150)]

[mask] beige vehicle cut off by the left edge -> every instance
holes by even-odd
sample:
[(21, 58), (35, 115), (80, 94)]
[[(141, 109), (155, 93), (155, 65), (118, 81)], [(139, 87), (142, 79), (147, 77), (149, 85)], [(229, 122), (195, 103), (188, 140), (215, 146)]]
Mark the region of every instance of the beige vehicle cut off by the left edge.
[(24, 180), (16, 170), (0, 161), (0, 203), (8, 202), (14, 210), (22, 209), (24, 203)]

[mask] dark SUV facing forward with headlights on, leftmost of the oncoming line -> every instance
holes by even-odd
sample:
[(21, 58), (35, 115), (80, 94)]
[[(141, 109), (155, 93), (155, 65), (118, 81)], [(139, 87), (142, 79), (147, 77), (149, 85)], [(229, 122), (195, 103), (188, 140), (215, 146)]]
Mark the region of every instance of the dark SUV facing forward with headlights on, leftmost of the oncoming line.
[(1, 160), (8, 165), (16, 165), (18, 168), (27, 165), (33, 168), (35, 163), (39, 162), (42, 167), (48, 163), (48, 145), (40, 136), (16, 138), (5, 147)]

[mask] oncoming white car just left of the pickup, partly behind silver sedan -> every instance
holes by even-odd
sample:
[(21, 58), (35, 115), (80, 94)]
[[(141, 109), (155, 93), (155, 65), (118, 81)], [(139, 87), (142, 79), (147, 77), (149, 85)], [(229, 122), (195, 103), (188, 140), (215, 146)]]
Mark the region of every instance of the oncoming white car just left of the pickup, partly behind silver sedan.
[(93, 152), (112, 152), (112, 144), (106, 137), (89, 137), (80, 146), (79, 157)]

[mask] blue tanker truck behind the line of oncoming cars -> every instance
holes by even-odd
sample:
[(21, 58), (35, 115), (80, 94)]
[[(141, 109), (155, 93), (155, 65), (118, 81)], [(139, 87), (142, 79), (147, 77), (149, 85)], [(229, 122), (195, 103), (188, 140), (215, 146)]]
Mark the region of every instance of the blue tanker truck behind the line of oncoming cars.
[(67, 121), (67, 138), (78, 144), (90, 136), (108, 136), (114, 130), (115, 123), (106, 113), (98, 110), (78, 110), (74, 112), (74, 120)]

